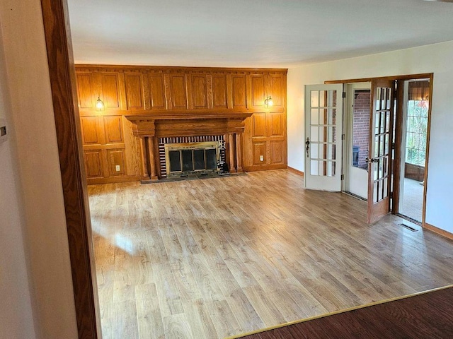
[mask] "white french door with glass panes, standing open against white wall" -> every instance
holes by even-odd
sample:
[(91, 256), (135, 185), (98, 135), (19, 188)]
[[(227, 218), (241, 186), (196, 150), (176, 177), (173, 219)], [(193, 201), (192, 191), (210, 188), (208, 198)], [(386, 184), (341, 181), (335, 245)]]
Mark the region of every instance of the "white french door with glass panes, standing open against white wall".
[(343, 84), (305, 86), (305, 187), (341, 191)]

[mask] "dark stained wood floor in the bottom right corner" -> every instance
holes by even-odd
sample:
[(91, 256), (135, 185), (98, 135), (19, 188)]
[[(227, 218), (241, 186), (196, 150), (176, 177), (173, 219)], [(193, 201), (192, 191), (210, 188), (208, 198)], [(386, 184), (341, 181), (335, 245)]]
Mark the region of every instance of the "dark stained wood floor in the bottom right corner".
[(453, 287), (241, 338), (453, 338)]

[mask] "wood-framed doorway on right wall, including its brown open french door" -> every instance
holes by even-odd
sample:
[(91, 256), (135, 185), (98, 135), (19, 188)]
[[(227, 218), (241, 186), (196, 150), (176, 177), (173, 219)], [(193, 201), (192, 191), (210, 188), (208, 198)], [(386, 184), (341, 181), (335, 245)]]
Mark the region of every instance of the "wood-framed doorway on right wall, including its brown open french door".
[(393, 213), (423, 225), (432, 74), (326, 83), (346, 98), (342, 191), (368, 201), (369, 222)]

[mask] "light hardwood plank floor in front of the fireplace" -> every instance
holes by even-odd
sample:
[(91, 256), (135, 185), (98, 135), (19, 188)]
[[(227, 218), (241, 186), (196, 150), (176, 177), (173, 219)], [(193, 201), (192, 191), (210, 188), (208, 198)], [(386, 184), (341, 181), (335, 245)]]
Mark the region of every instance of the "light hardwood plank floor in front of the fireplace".
[(453, 242), (285, 169), (89, 186), (103, 338), (224, 338), (453, 283)]

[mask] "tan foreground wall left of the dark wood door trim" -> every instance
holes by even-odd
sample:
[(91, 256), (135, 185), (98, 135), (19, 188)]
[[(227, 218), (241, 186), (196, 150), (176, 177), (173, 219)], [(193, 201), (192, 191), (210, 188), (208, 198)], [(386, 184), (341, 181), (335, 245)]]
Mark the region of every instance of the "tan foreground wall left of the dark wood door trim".
[[(11, 131), (6, 145), (0, 145), (0, 337), (75, 339), (74, 292), (40, 0), (2, 0), (0, 20), (5, 57), (1, 64), (7, 77), (7, 83), (4, 75), (0, 77), (0, 109), (10, 120)], [(8, 93), (11, 105), (4, 103)]]

